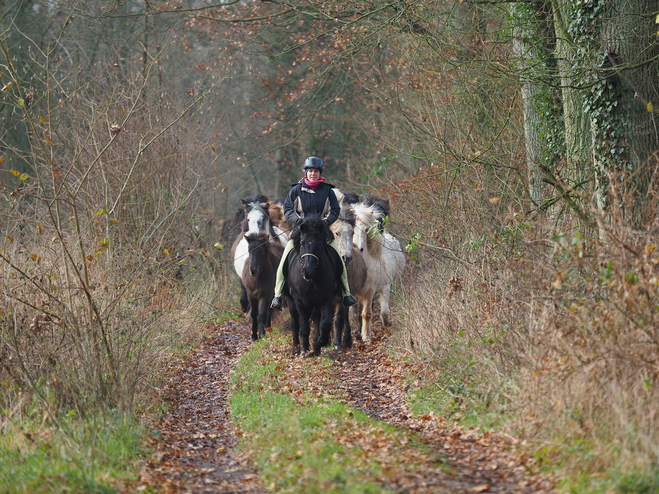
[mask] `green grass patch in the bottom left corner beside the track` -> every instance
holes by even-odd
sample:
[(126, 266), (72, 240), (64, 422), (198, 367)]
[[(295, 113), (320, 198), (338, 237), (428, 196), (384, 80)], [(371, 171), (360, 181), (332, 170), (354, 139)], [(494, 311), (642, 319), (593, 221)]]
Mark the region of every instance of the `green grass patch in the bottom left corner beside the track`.
[(130, 415), (75, 413), (53, 424), (40, 406), (8, 419), (0, 434), (0, 492), (112, 493), (137, 474), (127, 468), (145, 451)]

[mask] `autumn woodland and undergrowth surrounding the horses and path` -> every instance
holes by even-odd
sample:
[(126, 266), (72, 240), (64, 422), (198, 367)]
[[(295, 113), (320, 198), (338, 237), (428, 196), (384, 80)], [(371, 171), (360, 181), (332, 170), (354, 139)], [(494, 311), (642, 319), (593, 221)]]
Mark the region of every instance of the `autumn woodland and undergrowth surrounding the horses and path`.
[(236, 305), (239, 199), (282, 197), (317, 155), (391, 199), (392, 351), (426, 364), (419, 392), (561, 475), (656, 481), (658, 13), (5, 2), (5, 435), (157, 407), (172, 352)]

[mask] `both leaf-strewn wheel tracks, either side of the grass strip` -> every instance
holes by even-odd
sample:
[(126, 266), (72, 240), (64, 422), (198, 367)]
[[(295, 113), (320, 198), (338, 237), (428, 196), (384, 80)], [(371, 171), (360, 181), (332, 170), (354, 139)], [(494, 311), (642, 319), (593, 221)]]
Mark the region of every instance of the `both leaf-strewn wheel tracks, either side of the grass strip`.
[[(229, 376), (249, 350), (246, 322), (209, 325), (204, 342), (175, 370), (168, 385), (171, 411), (157, 425), (152, 462), (143, 467), (136, 490), (163, 493), (268, 492), (249, 458), (236, 449), (240, 431), (229, 417)], [(373, 326), (374, 341), (360, 341), (350, 350), (323, 349), (332, 366), (317, 373), (312, 382), (297, 382), (295, 368), (301, 358), (287, 346), (276, 348), (276, 358), (286, 361), (287, 382), (281, 388), (295, 397), (311, 392), (332, 395), (375, 419), (417, 434), (433, 454), (424, 458), (399, 443), (388, 444), (377, 434), (353, 440), (389, 469), (378, 479), (397, 492), (418, 493), (549, 493), (546, 479), (527, 473), (527, 458), (511, 441), (496, 434), (455, 428), (440, 417), (412, 416), (407, 406), (406, 379), (415, 369), (391, 359), (385, 343), (388, 332)], [(320, 366), (319, 366), (320, 367)], [(448, 469), (437, 469), (437, 455)], [(421, 465), (413, 473), (391, 466), (410, 461)], [(389, 466), (387, 466), (389, 465)], [(427, 467), (426, 467), (427, 465)], [(393, 474), (392, 474), (393, 472)]]

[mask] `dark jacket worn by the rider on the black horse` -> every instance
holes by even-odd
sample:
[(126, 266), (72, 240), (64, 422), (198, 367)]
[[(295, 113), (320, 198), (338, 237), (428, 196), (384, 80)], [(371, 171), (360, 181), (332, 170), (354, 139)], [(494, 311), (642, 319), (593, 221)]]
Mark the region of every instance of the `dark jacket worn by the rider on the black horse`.
[(296, 212), (296, 205), (298, 210), (301, 209), (304, 212), (304, 215), (322, 215), (325, 206), (329, 204), (329, 214), (324, 219), (331, 225), (341, 212), (341, 206), (339, 206), (339, 201), (336, 200), (336, 195), (332, 191), (333, 188), (333, 185), (323, 182), (316, 187), (316, 190), (312, 190), (302, 180), (288, 192), (283, 206), (284, 216), (291, 225), (297, 225), (300, 215)]

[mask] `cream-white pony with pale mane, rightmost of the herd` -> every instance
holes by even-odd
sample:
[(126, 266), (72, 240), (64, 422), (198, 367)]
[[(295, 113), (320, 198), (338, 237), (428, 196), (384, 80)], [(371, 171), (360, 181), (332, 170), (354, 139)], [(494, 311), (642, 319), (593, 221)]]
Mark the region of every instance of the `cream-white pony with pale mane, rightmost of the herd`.
[[(391, 283), (403, 274), (405, 255), (400, 242), (382, 228), (384, 213), (378, 207), (358, 203), (353, 204), (353, 208), (356, 216), (354, 241), (366, 261), (366, 285), (372, 287), (374, 292), (379, 292), (380, 318), (382, 324), (388, 326)], [(370, 341), (370, 337), (369, 327), (364, 341)]]

